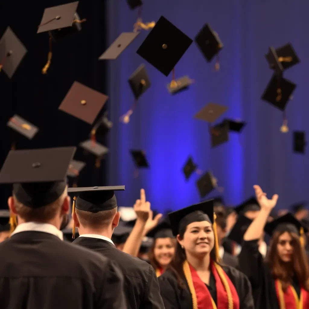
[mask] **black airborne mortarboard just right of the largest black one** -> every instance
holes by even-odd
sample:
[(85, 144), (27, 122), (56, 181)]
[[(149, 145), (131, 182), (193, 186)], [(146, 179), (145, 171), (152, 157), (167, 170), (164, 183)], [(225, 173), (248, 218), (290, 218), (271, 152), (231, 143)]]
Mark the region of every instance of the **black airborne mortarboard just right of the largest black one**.
[(208, 24), (203, 26), (194, 41), (208, 62), (223, 48), (218, 33), (213, 31)]

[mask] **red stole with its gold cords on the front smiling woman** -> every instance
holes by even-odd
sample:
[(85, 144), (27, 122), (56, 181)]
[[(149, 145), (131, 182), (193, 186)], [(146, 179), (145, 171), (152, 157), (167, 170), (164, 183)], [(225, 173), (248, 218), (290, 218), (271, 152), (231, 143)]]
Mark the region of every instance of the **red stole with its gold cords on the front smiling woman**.
[(220, 265), (211, 261), (211, 271), (216, 280), (217, 306), (205, 283), (188, 261), (184, 261), (183, 270), (192, 294), (193, 309), (239, 309), (236, 288)]

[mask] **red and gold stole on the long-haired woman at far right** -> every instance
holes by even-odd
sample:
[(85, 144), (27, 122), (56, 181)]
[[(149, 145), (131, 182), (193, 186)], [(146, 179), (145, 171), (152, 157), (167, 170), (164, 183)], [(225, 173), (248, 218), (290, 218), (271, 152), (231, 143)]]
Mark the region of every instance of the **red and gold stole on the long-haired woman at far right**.
[(283, 292), (281, 281), (275, 281), (276, 293), (280, 309), (306, 309), (309, 308), (309, 293), (301, 287), (300, 299), (292, 285)]

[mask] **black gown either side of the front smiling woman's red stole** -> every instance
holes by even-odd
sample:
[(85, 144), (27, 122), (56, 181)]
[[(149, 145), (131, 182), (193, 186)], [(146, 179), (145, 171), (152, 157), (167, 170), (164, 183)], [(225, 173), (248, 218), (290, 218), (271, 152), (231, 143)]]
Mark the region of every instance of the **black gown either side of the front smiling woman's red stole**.
[[(248, 278), (233, 267), (222, 266), (222, 269), (236, 288), (240, 309), (254, 309)], [(176, 276), (170, 269), (167, 269), (158, 279), (165, 309), (193, 309), (192, 295), (187, 281), (184, 281), (186, 289), (180, 289)]]

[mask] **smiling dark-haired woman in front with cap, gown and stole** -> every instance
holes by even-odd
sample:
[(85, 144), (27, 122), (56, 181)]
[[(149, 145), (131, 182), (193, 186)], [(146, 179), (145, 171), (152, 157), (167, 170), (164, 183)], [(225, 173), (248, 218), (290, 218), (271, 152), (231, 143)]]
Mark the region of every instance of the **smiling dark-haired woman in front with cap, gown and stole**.
[(253, 309), (248, 278), (218, 261), (213, 200), (168, 216), (177, 246), (158, 278), (165, 309)]

